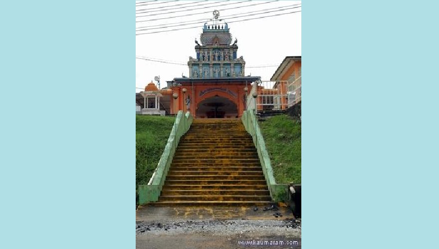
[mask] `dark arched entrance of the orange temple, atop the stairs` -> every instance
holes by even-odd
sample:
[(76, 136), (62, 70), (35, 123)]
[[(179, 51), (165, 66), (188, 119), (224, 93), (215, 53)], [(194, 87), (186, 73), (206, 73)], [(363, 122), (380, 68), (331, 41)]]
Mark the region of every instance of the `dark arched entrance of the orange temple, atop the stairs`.
[(218, 95), (205, 99), (197, 106), (197, 118), (235, 118), (238, 116), (236, 104)]

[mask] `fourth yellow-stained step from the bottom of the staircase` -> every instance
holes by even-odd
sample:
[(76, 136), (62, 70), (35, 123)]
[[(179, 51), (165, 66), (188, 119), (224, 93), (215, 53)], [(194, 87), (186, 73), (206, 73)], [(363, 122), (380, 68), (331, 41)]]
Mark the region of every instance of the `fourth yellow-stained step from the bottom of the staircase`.
[(233, 190), (233, 189), (240, 189), (240, 190), (267, 190), (268, 187), (266, 183), (264, 184), (255, 184), (255, 185), (242, 185), (242, 184), (228, 184), (228, 185), (222, 185), (222, 184), (199, 184), (199, 185), (183, 185), (183, 184), (174, 184), (174, 185), (164, 185), (162, 188), (163, 190)]

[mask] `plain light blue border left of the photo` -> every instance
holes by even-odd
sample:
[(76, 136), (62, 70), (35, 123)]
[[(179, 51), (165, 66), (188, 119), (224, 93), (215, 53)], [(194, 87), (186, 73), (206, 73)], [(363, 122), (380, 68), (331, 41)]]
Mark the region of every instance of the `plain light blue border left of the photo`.
[(133, 2), (0, 9), (0, 248), (135, 248)]

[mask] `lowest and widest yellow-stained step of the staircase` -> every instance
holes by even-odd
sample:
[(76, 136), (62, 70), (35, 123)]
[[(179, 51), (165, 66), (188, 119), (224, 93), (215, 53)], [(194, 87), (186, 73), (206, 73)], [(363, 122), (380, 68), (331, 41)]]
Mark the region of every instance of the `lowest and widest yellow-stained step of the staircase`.
[(252, 207), (252, 206), (268, 206), (270, 204), (271, 202), (269, 201), (159, 201), (159, 202), (152, 202), (148, 205), (164, 206), (164, 207), (166, 206)]

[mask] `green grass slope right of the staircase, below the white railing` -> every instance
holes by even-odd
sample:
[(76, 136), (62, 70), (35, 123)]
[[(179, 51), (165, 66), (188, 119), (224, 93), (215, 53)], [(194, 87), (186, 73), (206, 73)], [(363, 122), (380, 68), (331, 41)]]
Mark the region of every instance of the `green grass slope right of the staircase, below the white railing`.
[(301, 183), (301, 126), (287, 115), (258, 123), (276, 183)]

